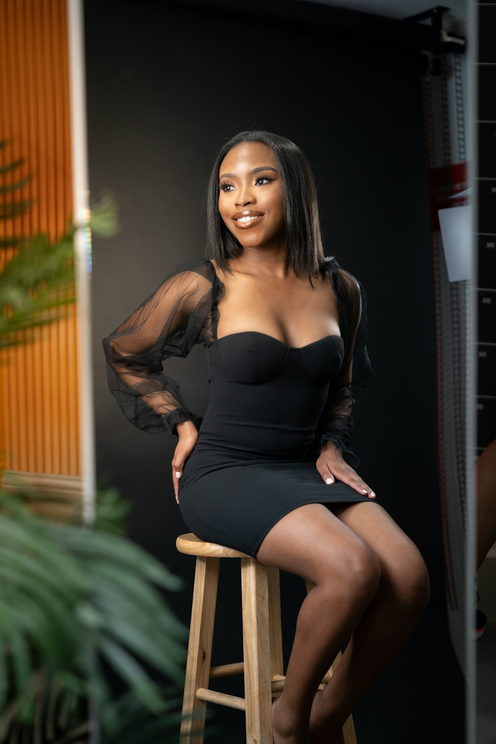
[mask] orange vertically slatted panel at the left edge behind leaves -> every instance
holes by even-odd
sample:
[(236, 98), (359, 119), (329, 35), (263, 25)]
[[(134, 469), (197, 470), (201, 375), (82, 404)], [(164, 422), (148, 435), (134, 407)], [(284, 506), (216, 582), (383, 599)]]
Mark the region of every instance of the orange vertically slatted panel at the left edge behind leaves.
[[(21, 217), (0, 220), (2, 236), (45, 233), (57, 240), (71, 218), (65, 3), (0, 0), (0, 138), (13, 140), (0, 161), (26, 161), (3, 182), (34, 176), (12, 197), (33, 199), (33, 206)], [(0, 251), (0, 271), (13, 253)], [(0, 351), (0, 471), (80, 475), (74, 305), (62, 313), (61, 321), (35, 331), (33, 343)]]

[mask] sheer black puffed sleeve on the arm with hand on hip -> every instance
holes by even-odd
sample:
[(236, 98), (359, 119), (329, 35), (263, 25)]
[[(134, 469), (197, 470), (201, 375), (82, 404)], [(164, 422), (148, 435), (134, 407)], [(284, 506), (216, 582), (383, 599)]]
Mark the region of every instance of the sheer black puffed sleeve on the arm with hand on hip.
[(107, 381), (120, 410), (144, 432), (170, 432), (202, 417), (187, 407), (181, 387), (164, 374), (162, 362), (187, 356), (194, 344), (209, 344), (211, 307), (219, 291), (212, 264), (178, 264), (141, 305), (102, 340)]

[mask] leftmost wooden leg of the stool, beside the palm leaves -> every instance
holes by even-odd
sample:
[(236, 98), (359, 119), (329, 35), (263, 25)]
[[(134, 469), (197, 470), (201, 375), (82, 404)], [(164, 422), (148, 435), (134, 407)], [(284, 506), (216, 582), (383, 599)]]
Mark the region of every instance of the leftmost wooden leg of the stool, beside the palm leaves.
[(220, 558), (196, 557), (187, 646), (186, 677), (181, 720), (181, 744), (203, 744), (207, 702), (196, 697), (199, 687), (208, 688), (212, 658)]

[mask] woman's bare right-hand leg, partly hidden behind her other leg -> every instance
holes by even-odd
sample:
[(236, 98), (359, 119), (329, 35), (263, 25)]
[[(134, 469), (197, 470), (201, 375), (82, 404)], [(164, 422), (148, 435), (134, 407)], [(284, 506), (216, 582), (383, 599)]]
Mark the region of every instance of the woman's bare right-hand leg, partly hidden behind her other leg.
[(381, 580), (332, 679), (315, 694), (312, 744), (334, 741), (358, 700), (405, 644), (429, 599), (422, 555), (380, 504), (361, 501), (328, 507), (370, 545), (381, 564)]

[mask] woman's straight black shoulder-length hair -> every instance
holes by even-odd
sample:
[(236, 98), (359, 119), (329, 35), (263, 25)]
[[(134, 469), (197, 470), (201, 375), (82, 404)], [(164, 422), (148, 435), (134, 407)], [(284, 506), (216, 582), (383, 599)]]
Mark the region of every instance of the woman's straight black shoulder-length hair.
[[(321, 224), (318, 216), (317, 188), (312, 167), (300, 148), (290, 139), (247, 129), (231, 137), (217, 153), (207, 190), (207, 243), (205, 256), (216, 260), (220, 269), (231, 269), (226, 259), (242, 254), (243, 246), (226, 227), (219, 214), (219, 168), (229, 150), (242, 142), (262, 142), (271, 148), (283, 185), (283, 211), (288, 261), (297, 276), (325, 273)], [(313, 286), (313, 284), (312, 284)]]

